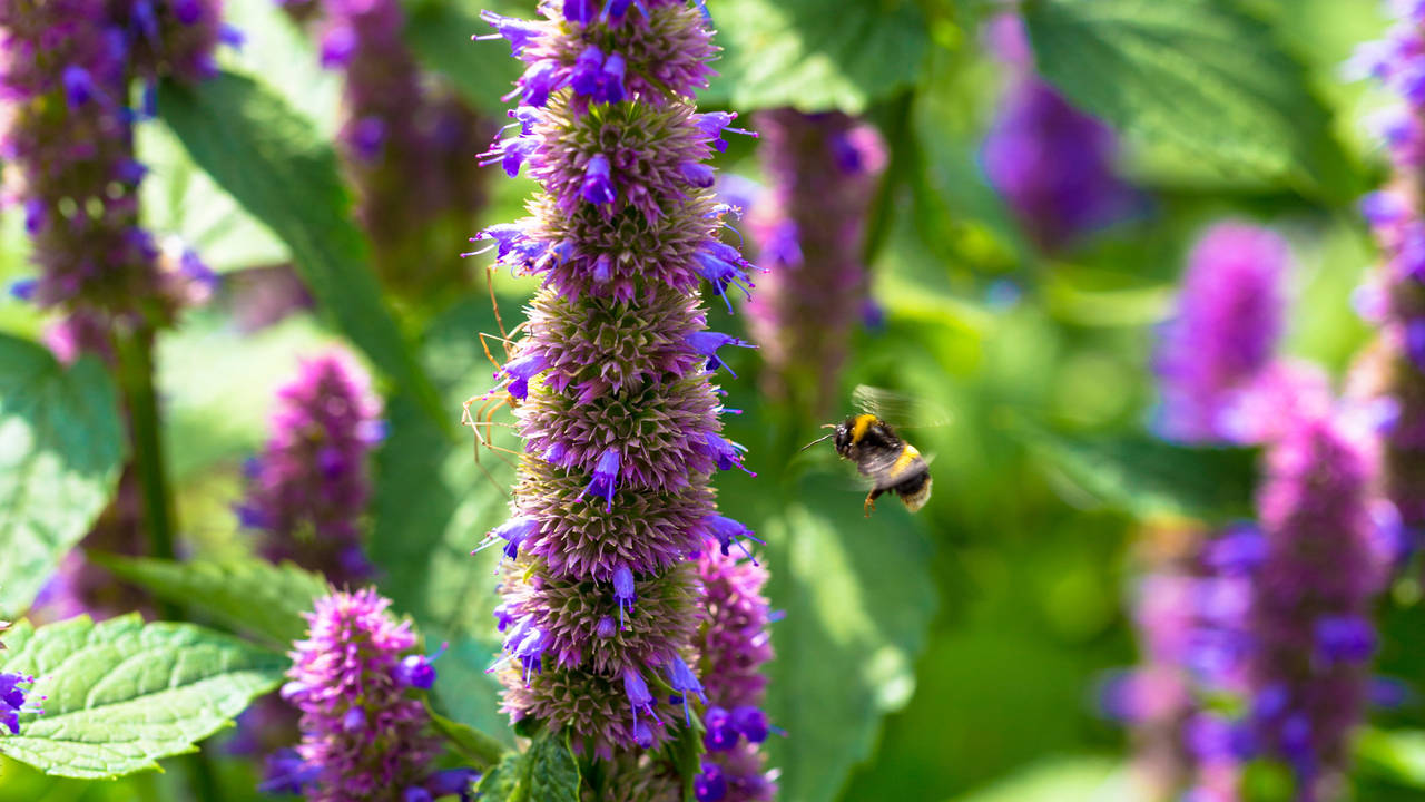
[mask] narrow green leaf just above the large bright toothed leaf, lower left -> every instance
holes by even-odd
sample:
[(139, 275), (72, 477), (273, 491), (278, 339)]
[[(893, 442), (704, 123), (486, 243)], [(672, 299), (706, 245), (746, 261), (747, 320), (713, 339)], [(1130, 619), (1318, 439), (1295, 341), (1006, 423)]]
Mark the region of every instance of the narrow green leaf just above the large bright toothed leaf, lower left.
[(312, 611), (312, 599), (329, 592), (321, 574), (292, 562), (174, 562), (107, 554), (90, 559), (162, 601), (201, 606), (234, 629), (264, 635), (281, 648), (306, 635), (302, 614)]

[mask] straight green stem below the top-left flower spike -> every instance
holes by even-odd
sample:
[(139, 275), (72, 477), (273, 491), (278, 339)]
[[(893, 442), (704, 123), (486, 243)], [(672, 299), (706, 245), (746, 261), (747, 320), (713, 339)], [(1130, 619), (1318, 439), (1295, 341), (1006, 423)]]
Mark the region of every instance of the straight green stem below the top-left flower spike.
[(154, 392), (154, 330), (145, 325), (120, 331), (115, 345), (120, 382), (128, 401), (134, 437), (134, 467), (144, 494), (150, 554), (160, 559), (172, 559), (174, 504), (172, 494), (168, 492), (162, 430), (158, 425), (158, 395)]

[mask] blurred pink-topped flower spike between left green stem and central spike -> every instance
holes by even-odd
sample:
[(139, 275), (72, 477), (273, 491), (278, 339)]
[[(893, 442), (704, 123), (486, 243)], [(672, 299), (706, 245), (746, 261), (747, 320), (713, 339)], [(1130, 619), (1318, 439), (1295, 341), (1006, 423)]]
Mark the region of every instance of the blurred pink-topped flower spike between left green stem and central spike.
[(369, 577), (359, 524), (379, 414), (370, 378), (336, 351), (301, 362), (278, 390), (271, 438), (238, 507), (244, 525), (258, 531), (262, 557), (291, 559), (335, 584)]

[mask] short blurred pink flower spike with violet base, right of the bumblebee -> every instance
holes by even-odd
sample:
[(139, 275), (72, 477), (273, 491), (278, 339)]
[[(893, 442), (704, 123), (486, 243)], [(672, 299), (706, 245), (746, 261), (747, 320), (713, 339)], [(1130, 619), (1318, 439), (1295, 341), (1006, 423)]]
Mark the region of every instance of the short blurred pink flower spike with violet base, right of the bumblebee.
[[(1176, 317), (1160, 331), (1159, 430), (1186, 442), (1258, 440), (1270, 421), (1234, 421), (1263, 392), (1284, 314), (1287, 243), (1251, 225), (1214, 225), (1193, 248)], [(1271, 414), (1271, 410), (1263, 410)]]

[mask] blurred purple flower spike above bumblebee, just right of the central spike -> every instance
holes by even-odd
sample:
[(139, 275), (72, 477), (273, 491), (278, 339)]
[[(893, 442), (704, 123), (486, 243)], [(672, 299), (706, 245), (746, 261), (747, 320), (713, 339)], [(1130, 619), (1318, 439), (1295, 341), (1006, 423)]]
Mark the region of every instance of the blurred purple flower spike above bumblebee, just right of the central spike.
[(839, 111), (757, 116), (771, 188), (748, 214), (767, 271), (747, 304), (768, 391), (825, 414), (868, 301), (866, 213), (885, 170), (876, 130)]

